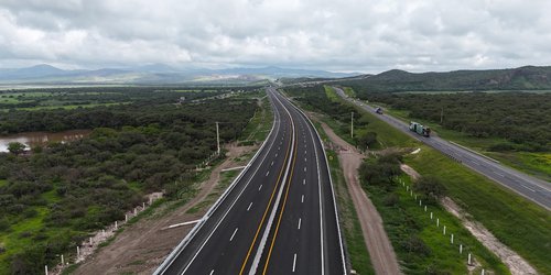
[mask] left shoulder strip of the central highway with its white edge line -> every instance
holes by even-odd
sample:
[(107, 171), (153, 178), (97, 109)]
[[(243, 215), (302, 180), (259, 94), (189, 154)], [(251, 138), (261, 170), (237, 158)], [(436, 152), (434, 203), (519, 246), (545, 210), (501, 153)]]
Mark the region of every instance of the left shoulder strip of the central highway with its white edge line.
[[(279, 116), (279, 113), (278, 113), (278, 111), (276, 109), (274, 103), (271, 100), (270, 100), (270, 103), (272, 106), (272, 109), (276, 110), (276, 111), (273, 112), (272, 129), (270, 130), (270, 133), (268, 134), (268, 138), (264, 140), (264, 142), (262, 143), (262, 145), (260, 146), (260, 148), (257, 151), (257, 153), (252, 156), (252, 158), (247, 164), (247, 166), (241, 170), (241, 173), (239, 173), (239, 175), (236, 177), (236, 179), (234, 179), (234, 182), (231, 183), (231, 185), (226, 189), (226, 191), (224, 191), (224, 194), (218, 198), (218, 200), (216, 200), (216, 202), (210, 207), (210, 209), (208, 209), (207, 213), (202, 218), (202, 221), (199, 221), (197, 224), (195, 224), (195, 227), (193, 227), (193, 229), (190, 231), (190, 233), (187, 233), (187, 235), (176, 245), (176, 248), (174, 248), (174, 250), (169, 254), (169, 256), (166, 256), (166, 258), (163, 261), (163, 263), (155, 270), (155, 272), (153, 273), (153, 275), (163, 274), (165, 272), (165, 270), (176, 260), (176, 257), (180, 255), (180, 253), (182, 253), (182, 251), (187, 245), (187, 243), (190, 243), (190, 241), (195, 237), (195, 234), (197, 234), (197, 231), (203, 227), (203, 224), (208, 219), (208, 217), (210, 216), (210, 213), (214, 212), (218, 208), (218, 206), (222, 204), (222, 201), (224, 199), (226, 199), (226, 197), (229, 194), (229, 191), (231, 191), (234, 189), (234, 187), (241, 179), (241, 177), (249, 170), (251, 164), (260, 155), (260, 153), (264, 148), (266, 144), (268, 144), (268, 141), (272, 136), (273, 130), (276, 129), (276, 123), (278, 121), (278, 116)], [(273, 145), (274, 142), (276, 142), (276, 139), (273, 139), (273, 141), (272, 141), (272, 143), (270, 145), (270, 148), (271, 148), (271, 146)], [(260, 165), (259, 165), (259, 167), (260, 167)]]

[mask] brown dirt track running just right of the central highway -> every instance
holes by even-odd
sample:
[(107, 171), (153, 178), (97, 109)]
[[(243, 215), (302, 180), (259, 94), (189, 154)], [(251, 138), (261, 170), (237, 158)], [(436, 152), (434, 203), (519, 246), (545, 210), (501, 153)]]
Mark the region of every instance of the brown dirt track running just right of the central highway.
[(348, 185), (348, 191), (358, 215), (364, 240), (369, 251), (375, 272), (377, 274), (400, 274), (400, 265), (398, 264), (390, 240), (382, 228), (382, 219), (359, 185), (358, 168), (364, 155), (336, 135), (325, 123), (322, 123), (322, 128), (331, 141), (339, 147), (336, 152)]

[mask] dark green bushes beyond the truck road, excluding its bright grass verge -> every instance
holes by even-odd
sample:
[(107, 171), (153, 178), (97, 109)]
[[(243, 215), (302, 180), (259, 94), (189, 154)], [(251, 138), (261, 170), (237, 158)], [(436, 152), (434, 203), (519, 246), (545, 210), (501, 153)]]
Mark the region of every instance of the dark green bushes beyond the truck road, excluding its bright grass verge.
[[(551, 151), (551, 94), (361, 94), (361, 99), (409, 111), (411, 119), (441, 123), (475, 138), (501, 138), (494, 151)], [(443, 117), (441, 117), (443, 113)], [(442, 122), (441, 122), (442, 119)]]

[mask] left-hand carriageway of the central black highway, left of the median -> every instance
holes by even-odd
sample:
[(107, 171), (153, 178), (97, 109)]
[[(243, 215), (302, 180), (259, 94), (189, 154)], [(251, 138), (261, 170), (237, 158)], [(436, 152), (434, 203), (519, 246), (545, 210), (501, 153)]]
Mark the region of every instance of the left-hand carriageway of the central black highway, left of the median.
[[(235, 187), (174, 261), (158, 274), (239, 274), (266, 212), (274, 205), (292, 146), (291, 117), (272, 101), (274, 125), (262, 150)], [(278, 180), (279, 179), (279, 180)], [(259, 229), (259, 224), (263, 224)]]

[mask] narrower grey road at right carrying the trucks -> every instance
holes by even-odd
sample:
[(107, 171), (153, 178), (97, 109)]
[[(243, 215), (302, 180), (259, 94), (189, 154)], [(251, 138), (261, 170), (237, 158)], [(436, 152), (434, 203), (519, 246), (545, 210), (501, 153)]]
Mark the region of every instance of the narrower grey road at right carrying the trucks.
[(424, 138), (409, 130), (409, 124), (388, 114), (376, 114), (375, 108), (353, 98), (348, 98), (345, 92), (333, 87), (336, 92), (345, 100), (355, 103), (363, 109), (374, 113), (380, 120), (387, 122), (393, 128), (409, 134), (410, 136), (423, 142), (426, 145), (442, 152), (453, 160), (462, 163), (468, 168), (493, 179), (494, 182), (514, 190), (525, 198), (551, 210), (551, 184), (539, 178), (529, 176), (519, 170), (509, 168), (500, 163), (479, 155), (468, 148), (450, 143), (439, 136)]

